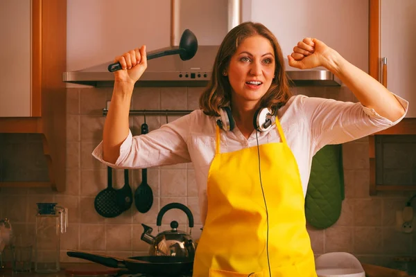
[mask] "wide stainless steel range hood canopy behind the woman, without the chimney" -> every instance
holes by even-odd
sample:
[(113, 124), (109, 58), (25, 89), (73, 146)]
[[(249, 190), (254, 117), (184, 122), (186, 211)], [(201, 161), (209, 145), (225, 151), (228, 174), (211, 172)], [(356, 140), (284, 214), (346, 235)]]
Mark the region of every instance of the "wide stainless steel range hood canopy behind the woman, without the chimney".
[[(180, 60), (179, 55), (159, 57), (148, 61), (148, 68), (141, 75), (137, 86), (205, 86), (211, 78), (212, 65), (218, 46), (198, 46), (195, 57), (189, 61)], [(87, 84), (94, 87), (112, 87), (114, 75), (107, 71), (108, 64), (100, 64), (80, 71), (64, 72), (63, 81)], [(289, 66), (286, 60), (286, 74), (295, 86), (339, 86), (340, 81), (326, 69), (299, 70)]]

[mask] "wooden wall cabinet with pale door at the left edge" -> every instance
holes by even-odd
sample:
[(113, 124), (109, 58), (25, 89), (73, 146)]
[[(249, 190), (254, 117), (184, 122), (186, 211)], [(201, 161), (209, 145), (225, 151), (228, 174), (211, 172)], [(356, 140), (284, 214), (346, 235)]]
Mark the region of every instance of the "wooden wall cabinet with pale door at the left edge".
[(65, 188), (66, 0), (0, 0), (0, 133), (42, 134), (49, 182), (0, 186)]

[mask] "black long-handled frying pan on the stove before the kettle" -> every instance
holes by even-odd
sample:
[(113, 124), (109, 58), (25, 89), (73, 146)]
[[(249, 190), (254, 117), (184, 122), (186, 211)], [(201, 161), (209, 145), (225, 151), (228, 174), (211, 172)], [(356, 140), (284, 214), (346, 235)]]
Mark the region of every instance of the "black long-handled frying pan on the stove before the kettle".
[(123, 259), (85, 251), (67, 251), (67, 255), (96, 262), (106, 267), (128, 269), (133, 274), (151, 274), (152, 276), (187, 275), (191, 274), (193, 267), (193, 258), (175, 256), (137, 256)]

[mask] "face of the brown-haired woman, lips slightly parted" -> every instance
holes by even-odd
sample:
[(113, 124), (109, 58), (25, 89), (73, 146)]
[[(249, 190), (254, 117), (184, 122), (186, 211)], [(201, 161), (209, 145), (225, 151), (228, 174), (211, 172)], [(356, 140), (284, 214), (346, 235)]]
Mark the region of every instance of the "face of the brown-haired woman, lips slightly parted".
[(225, 71), (237, 102), (259, 102), (275, 74), (275, 51), (265, 37), (254, 35), (241, 42)]

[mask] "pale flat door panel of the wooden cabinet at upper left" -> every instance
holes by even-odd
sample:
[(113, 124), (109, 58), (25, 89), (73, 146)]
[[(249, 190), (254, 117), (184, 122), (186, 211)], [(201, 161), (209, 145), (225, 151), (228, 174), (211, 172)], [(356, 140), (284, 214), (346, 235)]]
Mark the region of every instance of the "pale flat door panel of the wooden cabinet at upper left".
[(0, 6), (0, 117), (31, 116), (31, 0)]

